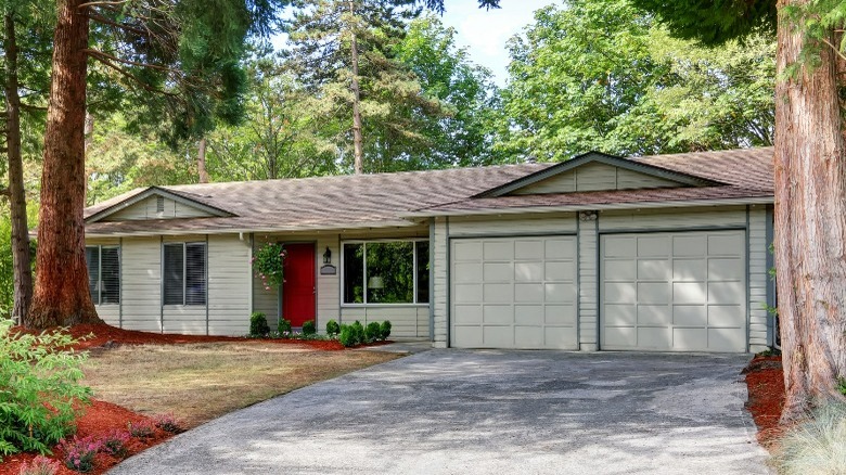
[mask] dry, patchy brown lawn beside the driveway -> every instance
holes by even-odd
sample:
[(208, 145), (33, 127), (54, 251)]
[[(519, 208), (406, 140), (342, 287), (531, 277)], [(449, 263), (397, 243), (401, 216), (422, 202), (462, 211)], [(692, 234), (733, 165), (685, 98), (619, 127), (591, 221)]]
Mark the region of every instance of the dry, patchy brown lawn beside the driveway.
[(145, 414), (172, 413), (190, 428), (235, 409), (397, 358), (272, 343), (123, 346), (84, 365), (94, 397)]

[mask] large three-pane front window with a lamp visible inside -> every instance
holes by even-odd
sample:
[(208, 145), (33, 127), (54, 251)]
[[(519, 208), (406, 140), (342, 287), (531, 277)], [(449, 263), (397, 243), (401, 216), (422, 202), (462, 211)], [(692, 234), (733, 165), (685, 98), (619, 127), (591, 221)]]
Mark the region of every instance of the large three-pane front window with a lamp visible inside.
[(428, 241), (344, 244), (344, 304), (427, 304)]

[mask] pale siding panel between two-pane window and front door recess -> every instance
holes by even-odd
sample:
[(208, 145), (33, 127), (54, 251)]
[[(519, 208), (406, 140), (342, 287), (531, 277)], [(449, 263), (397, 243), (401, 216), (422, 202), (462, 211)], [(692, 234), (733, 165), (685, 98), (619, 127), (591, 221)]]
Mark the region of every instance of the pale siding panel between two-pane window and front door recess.
[(238, 234), (208, 238), (208, 333), (249, 332), (249, 240)]

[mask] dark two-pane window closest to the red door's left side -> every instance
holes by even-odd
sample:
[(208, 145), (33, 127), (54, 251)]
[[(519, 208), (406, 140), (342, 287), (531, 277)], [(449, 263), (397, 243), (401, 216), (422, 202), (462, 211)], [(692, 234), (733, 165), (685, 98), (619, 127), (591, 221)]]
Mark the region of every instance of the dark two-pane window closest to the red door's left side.
[(206, 305), (206, 243), (165, 244), (163, 267), (165, 305)]

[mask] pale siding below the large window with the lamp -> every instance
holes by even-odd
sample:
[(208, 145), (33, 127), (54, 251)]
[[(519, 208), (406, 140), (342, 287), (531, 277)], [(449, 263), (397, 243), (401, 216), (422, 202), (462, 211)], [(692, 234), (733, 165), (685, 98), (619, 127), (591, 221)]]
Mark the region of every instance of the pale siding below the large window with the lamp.
[(341, 323), (390, 320), (390, 339), (428, 338), (428, 306), (342, 307)]

